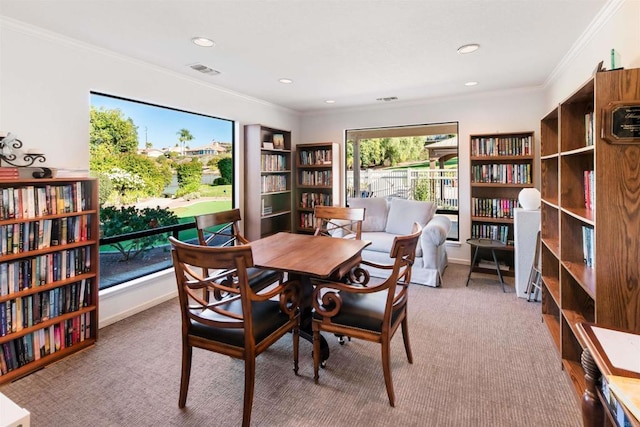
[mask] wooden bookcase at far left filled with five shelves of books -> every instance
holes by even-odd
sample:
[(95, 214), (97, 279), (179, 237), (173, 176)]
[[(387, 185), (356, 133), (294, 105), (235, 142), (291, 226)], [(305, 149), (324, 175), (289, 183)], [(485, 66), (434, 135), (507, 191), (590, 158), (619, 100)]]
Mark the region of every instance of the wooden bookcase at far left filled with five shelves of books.
[(0, 181), (0, 384), (98, 337), (98, 185)]

